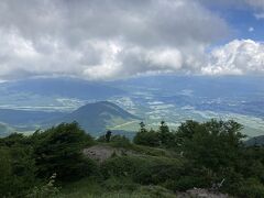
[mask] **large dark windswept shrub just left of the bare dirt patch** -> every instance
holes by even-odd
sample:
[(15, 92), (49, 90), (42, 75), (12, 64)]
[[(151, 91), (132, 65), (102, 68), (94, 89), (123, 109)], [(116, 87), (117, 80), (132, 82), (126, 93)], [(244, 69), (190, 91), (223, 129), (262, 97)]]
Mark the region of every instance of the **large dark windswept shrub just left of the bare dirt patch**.
[(92, 144), (92, 139), (78, 123), (62, 123), (43, 133), (33, 134), (37, 175), (47, 178), (56, 173), (58, 180), (89, 176), (96, 164), (84, 158), (81, 150)]

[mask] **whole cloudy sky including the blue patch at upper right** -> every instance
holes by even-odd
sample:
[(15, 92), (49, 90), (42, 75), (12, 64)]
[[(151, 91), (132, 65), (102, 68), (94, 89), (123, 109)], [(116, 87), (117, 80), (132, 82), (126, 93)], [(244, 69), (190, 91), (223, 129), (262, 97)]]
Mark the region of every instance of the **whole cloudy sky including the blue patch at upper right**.
[(0, 80), (264, 75), (264, 0), (1, 0)]

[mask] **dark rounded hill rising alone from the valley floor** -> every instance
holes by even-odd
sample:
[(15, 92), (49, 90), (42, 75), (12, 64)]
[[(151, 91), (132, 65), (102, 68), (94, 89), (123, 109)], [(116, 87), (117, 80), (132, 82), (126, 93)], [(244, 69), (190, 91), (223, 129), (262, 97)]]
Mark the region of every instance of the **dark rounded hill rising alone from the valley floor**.
[(114, 125), (135, 120), (139, 120), (139, 118), (119, 106), (108, 101), (99, 101), (82, 106), (72, 113), (55, 119), (46, 124), (77, 121), (85, 131), (95, 135), (105, 133), (107, 129), (111, 129)]

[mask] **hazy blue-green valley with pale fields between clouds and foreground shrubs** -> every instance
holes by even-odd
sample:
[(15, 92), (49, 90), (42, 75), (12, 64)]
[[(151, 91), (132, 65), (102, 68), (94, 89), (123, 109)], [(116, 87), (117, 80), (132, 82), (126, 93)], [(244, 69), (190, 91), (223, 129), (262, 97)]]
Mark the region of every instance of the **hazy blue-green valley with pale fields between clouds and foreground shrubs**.
[(88, 108), (87, 112), (80, 112), (80, 125), (86, 125), (87, 131), (99, 135), (107, 129), (136, 132), (140, 120), (150, 129), (156, 129), (161, 120), (165, 120), (172, 129), (177, 129), (185, 120), (234, 119), (244, 125), (244, 133), (256, 136), (264, 133), (262, 85), (264, 79), (261, 77), (211, 78), (173, 75), (108, 82), (73, 78), (2, 82), (0, 122), (6, 128), (1, 134), (9, 133), (10, 129), (33, 132), (45, 128), (47, 122), (80, 121), (68, 114), (87, 103), (110, 101), (136, 119), (128, 119), (122, 113), (116, 117), (105, 109), (98, 111), (97, 116), (106, 113), (111, 119), (101, 117), (102, 123), (95, 129), (91, 127), (95, 119), (88, 116), (95, 109)]

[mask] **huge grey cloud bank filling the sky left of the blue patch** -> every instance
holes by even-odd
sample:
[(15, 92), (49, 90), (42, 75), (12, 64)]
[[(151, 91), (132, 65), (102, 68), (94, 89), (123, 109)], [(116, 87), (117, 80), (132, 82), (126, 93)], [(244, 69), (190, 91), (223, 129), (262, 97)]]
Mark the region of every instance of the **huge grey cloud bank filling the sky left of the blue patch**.
[(199, 72), (228, 33), (196, 0), (2, 0), (0, 79)]

